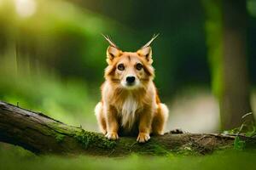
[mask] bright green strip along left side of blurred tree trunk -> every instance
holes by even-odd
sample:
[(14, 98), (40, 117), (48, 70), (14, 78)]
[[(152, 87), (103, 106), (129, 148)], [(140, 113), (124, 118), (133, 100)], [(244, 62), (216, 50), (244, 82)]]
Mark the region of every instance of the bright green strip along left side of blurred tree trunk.
[(201, 0), (206, 12), (208, 60), (212, 76), (212, 92), (221, 98), (223, 79), (223, 14), (221, 0)]

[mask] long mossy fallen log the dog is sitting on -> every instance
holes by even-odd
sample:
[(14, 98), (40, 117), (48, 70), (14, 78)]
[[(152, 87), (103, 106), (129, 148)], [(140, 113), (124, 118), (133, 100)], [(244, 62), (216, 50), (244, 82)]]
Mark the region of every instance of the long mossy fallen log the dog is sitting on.
[(49, 116), (0, 101), (0, 141), (20, 145), (37, 154), (125, 156), (131, 153), (165, 155), (170, 152), (207, 154), (232, 147), (234, 136), (170, 132), (138, 144), (136, 137), (110, 141), (100, 133), (68, 126)]

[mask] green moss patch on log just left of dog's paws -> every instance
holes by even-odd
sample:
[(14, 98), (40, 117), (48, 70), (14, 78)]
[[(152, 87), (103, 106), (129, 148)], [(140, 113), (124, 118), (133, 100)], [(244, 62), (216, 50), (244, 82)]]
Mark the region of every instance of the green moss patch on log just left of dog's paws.
[(83, 145), (84, 149), (88, 149), (89, 147), (113, 149), (116, 146), (115, 141), (108, 140), (98, 133), (86, 132), (83, 129), (79, 133), (76, 133), (74, 138)]

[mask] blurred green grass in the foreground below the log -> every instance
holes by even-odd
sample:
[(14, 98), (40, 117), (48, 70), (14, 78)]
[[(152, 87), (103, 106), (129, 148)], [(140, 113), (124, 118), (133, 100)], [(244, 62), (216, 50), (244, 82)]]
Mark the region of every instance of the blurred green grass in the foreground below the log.
[(0, 144), (0, 169), (253, 169), (256, 150), (217, 150), (211, 155), (36, 156), (11, 144)]

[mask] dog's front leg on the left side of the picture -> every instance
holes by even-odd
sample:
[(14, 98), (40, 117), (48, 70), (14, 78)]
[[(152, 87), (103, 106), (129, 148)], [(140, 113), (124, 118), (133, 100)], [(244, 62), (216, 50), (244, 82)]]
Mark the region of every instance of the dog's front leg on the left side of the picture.
[(119, 124), (117, 120), (117, 111), (116, 109), (109, 105), (106, 107), (105, 110), (106, 117), (107, 117), (107, 134), (106, 137), (108, 139), (119, 139), (118, 130), (119, 130)]

